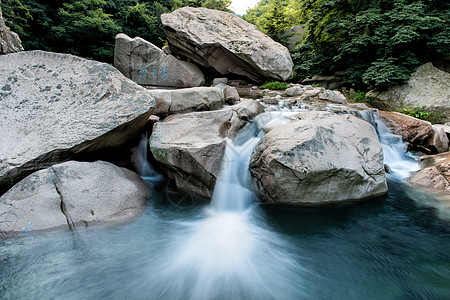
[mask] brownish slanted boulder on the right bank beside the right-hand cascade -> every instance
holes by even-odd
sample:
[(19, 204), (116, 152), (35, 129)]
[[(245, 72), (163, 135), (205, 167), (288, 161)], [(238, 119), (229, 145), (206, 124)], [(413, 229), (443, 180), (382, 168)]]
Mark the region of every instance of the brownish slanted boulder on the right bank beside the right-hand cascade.
[(380, 117), (386, 126), (403, 141), (417, 146), (426, 146), (433, 133), (430, 122), (420, 120), (398, 112), (380, 111)]

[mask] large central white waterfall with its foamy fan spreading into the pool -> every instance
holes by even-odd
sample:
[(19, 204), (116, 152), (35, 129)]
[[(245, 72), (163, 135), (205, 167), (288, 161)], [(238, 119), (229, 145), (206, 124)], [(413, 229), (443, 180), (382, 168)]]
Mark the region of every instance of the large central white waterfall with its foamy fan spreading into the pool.
[[(210, 206), (200, 220), (172, 223), (170, 251), (153, 270), (159, 274), (151, 280), (154, 298), (304, 298), (299, 258), (285, 240), (265, 228), (253, 203), (250, 158), (263, 135), (258, 125), (273, 119), (261, 116), (260, 123), (248, 124), (234, 142), (226, 140)], [(161, 288), (165, 281), (171, 282), (170, 290)]]

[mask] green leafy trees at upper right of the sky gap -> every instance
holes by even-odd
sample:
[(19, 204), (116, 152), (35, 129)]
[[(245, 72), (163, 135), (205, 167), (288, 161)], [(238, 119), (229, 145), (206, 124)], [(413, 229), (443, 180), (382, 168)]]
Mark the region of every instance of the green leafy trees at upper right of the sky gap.
[[(276, 1), (261, 1), (244, 18), (270, 35), (280, 33), (278, 19), (268, 18)], [(353, 87), (382, 89), (407, 82), (420, 64), (450, 55), (448, 1), (284, 1), (291, 10), (284, 11), (285, 25), (306, 27), (293, 54), (299, 79), (345, 71)]]

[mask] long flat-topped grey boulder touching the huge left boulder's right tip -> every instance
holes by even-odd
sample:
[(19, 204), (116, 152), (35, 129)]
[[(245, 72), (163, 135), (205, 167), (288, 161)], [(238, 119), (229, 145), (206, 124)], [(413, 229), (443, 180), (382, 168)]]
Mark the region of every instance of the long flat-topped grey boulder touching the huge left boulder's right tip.
[(224, 102), (222, 90), (215, 87), (149, 90), (149, 93), (157, 103), (154, 113), (160, 116), (218, 109), (223, 106)]

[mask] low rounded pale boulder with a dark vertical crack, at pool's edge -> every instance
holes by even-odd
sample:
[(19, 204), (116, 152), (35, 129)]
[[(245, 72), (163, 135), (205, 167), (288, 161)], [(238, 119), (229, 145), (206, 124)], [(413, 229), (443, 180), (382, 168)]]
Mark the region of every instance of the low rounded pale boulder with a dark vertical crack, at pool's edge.
[(0, 197), (0, 211), (15, 221), (0, 231), (124, 222), (138, 216), (149, 198), (150, 186), (127, 169), (102, 161), (69, 161), (29, 175)]

